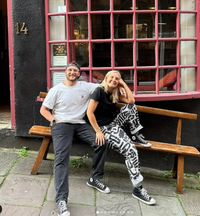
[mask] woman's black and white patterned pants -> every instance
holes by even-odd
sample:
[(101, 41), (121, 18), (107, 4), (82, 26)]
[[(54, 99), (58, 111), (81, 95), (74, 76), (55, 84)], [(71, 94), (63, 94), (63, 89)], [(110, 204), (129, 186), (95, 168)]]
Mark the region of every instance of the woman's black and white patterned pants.
[(131, 134), (142, 129), (135, 104), (124, 105), (113, 122), (102, 126), (101, 131), (108, 141), (108, 146), (124, 156), (133, 187), (139, 187), (143, 176), (140, 173), (138, 152), (133, 141), (123, 130), (124, 126), (129, 127)]

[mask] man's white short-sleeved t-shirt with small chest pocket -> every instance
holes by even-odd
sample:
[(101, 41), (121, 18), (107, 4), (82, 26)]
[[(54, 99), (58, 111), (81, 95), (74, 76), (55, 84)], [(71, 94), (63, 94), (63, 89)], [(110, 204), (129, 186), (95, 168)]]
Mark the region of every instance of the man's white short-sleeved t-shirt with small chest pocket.
[(98, 85), (84, 81), (78, 81), (75, 86), (60, 83), (49, 90), (43, 106), (52, 109), (52, 115), (59, 122), (83, 124), (90, 93)]

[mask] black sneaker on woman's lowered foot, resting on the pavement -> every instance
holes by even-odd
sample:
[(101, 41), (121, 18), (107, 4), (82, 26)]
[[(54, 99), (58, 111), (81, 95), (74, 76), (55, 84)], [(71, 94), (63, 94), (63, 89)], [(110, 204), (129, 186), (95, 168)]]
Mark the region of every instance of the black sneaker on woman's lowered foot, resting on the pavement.
[(132, 195), (147, 205), (154, 205), (156, 203), (156, 201), (148, 195), (147, 190), (145, 190), (142, 186), (134, 188)]

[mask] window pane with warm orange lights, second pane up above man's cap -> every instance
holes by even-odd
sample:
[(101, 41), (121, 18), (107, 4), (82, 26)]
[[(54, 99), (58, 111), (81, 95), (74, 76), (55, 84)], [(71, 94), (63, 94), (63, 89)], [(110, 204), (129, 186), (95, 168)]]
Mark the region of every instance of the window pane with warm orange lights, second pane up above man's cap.
[(88, 38), (88, 16), (87, 15), (70, 15), (70, 39), (87, 39)]

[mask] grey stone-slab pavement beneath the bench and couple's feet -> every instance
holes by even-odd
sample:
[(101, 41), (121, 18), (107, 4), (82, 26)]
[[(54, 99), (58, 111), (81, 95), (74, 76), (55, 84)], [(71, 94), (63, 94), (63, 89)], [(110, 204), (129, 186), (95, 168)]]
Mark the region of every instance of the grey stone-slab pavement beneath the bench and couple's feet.
[[(22, 153), (25, 156), (21, 156)], [(3, 208), (0, 216), (57, 215), (53, 160), (43, 161), (38, 175), (30, 175), (36, 153), (0, 149), (0, 205)], [(106, 163), (103, 181), (111, 193), (102, 194), (86, 185), (91, 158), (73, 157), (70, 162), (68, 207), (71, 216), (200, 215), (200, 179), (197, 176), (186, 174), (183, 194), (176, 194), (176, 181), (170, 177), (170, 172), (141, 168), (143, 186), (157, 201), (155, 206), (148, 206), (132, 197), (124, 165)]]

